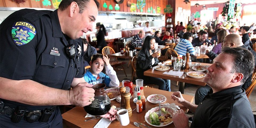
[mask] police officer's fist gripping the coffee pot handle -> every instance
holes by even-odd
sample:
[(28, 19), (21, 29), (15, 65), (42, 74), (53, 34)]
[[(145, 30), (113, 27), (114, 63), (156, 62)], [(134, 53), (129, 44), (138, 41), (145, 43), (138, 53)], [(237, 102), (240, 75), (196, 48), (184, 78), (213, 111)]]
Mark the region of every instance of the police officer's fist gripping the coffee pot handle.
[(72, 105), (75, 106), (87, 106), (90, 105), (90, 98), (94, 100), (95, 90), (91, 88), (93, 85), (89, 83), (79, 83), (73, 89), (69, 91), (69, 100)]

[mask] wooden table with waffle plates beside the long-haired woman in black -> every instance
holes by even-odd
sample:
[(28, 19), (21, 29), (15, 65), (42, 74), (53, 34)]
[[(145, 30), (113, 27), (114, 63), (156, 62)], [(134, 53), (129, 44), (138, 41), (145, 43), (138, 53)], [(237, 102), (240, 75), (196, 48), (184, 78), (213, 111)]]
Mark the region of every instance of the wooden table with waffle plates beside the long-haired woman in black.
[[(170, 61), (170, 60), (167, 60), (167, 61)], [(192, 64), (194, 64), (196, 62), (192, 62)], [(202, 66), (210, 66), (211, 64), (210, 63), (201, 63)], [(172, 70), (173, 67), (171, 67), (171, 69), (169, 70), (166, 70), (167, 72)], [(203, 82), (203, 78), (192, 78), (192, 77), (185, 77), (185, 75), (183, 74), (181, 77), (179, 76), (175, 76), (175, 75), (167, 75), (167, 74), (163, 74), (164, 72), (166, 71), (159, 71), (159, 70), (154, 70), (153, 68), (152, 69), (149, 69), (147, 71), (144, 71), (144, 75), (146, 76), (150, 76), (150, 77), (158, 77), (158, 78), (162, 78), (162, 79), (170, 79), (170, 80), (173, 80), (173, 81), (179, 81), (179, 91), (184, 94), (184, 86), (185, 86), (185, 83), (191, 83), (191, 84), (194, 84), (194, 85), (200, 85), (200, 86), (205, 86), (206, 83)], [(185, 69), (184, 72), (189, 72), (189, 71), (194, 71), (193, 69)], [(206, 71), (204, 72), (206, 73)]]

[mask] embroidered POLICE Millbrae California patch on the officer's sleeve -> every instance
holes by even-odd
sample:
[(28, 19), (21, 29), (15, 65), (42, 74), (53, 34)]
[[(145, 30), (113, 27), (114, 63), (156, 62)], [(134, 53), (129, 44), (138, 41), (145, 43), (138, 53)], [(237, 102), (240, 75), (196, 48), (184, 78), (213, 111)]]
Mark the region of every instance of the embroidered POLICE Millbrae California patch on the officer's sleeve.
[(11, 29), (11, 36), (13, 42), (17, 46), (23, 46), (32, 41), (37, 34), (35, 26), (27, 21), (17, 21), (13, 24)]

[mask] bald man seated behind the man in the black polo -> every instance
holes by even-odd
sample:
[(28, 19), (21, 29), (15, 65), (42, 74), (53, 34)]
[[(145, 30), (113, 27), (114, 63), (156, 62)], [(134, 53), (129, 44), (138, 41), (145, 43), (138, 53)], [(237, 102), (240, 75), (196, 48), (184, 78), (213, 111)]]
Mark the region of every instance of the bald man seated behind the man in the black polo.
[[(222, 47), (242, 47), (245, 49), (248, 49), (251, 51), (251, 53), (254, 56), (254, 60), (256, 60), (256, 53), (251, 47), (245, 47), (242, 42), (242, 38), (238, 34), (229, 34), (227, 35), (222, 42)], [(209, 49), (206, 50), (206, 55), (213, 60), (215, 57), (217, 57), (218, 54), (214, 53), (213, 51), (210, 51)], [(256, 61), (255, 61), (256, 66)], [(255, 68), (255, 67), (254, 67)], [(252, 74), (246, 79), (245, 83), (242, 85), (243, 89), (247, 89), (251, 85), (251, 77)], [(204, 87), (200, 87), (195, 92), (195, 104), (198, 105), (203, 98), (207, 95), (208, 91), (211, 89), (209, 85), (206, 85)]]

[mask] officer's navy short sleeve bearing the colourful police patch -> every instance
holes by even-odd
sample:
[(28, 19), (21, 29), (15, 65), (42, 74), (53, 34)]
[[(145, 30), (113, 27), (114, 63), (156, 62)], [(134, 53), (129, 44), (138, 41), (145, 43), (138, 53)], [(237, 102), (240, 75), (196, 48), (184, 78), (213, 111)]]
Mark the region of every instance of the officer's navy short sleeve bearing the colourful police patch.
[[(35, 26), (32, 22), (23, 18), (15, 20), (7, 18), (1, 23), (0, 74), (1, 77), (13, 80), (32, 79), (37, 62), (36, 47), (41, 35), (41, 33), (38, 33), (40, 28), (35, 26), (36, 31), (30, 33), (30, 31), (26, 31), (25, 28), (21, 30), (21, 28), (15, 27), (14, 24), (17, 23), (17, 21), (23, 21)], [(25, 33), (28, 34), (26, 38), (20, 38), (22, 41), (24, 41), (24, 39), (26, 40), (24, 41), (26, 42), (25, 45), (17, 46), (17, 43), (15, 44), (13, 38), (15, 39), (16, 36), (16, 39), (18, 39), (18, 31), (25, 31)]]

